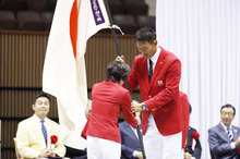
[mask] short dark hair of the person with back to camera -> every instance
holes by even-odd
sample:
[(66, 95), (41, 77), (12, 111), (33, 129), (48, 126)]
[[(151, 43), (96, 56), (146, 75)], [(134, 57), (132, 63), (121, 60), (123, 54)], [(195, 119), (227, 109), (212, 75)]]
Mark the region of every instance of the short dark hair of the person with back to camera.
[(111, 80), (112, 82), (125, 81), (130, 73), (129, 64), (120, 61), (112, 61), (109, 63), (106, 71), (106, 81)]

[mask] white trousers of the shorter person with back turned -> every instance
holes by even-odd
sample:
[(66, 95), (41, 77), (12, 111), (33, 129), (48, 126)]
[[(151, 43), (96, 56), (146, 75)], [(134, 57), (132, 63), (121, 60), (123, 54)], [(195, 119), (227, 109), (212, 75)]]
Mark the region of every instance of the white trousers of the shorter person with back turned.
[(87, 159), (120, 159), (121, 144), (87, 136)]

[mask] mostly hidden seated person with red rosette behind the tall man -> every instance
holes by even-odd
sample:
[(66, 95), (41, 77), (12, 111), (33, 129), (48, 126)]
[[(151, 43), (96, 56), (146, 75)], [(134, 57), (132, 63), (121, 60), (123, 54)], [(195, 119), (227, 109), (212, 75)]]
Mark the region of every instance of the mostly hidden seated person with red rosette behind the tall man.
[[(189, 105), (189, 115), (192, 112), (192, 107)], [(184, 146), (184, 159), (200, 159), (202, 154), (202, 147), (200, 144), (200, 134), (195, 129), (189, 126), (188, 136)]]

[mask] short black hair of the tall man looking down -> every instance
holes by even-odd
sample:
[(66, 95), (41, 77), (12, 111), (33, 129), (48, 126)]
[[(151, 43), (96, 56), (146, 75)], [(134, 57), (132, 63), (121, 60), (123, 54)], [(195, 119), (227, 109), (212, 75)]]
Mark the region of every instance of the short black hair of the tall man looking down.
[(154, 40), (156, 40), (156, 33), (154, 28), (149, 26), (144, 26), (136, 32), (135, 40), (136, 41), (148, 41), (149, 44), (153, 44)]

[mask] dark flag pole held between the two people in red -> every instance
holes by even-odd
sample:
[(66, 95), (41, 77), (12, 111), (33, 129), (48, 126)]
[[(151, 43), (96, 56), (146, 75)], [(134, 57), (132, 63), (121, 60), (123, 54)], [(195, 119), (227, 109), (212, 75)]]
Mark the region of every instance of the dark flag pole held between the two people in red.
[[(116, 29), (112, 28), (113, 22), (112, 22), (112, 19), (111, 19), (110, 9), (109, 9), (109, 5), (108, 5), (108, 0), (104, 0), (104, 3), (105, 3), (105, 7), (106, 7), (106, 10), (107, 10), (108, 19), (110, 21), (111, 33), (113, 35), (113, 40), (115, 40), (117, 53), (118, 53), (118, 56), (121, 57), (120, 48), (119, 48), (119, 44), (118, 44), (118, 39), (117, 39)], [(128, 80), (124, 83), (125, 83), (127, 89), (130, 93)], [(135, 113), (134, 113), (134, 115), (135, 115)], [(139, 125), (136, 126), (136, 132), (137, 132), (137, 136), (139, 136), (139, 139), (140, 139), (140, 146), (141, 146), (141, 150), (142, 150), (142, 154), (143, 154), (143, 159), (146, 159), (145, 149), (144, 149), (144, 146), (143, 146), (143, 138), (142, 138), (142, 134), (140, 132), (140, 126)]]

